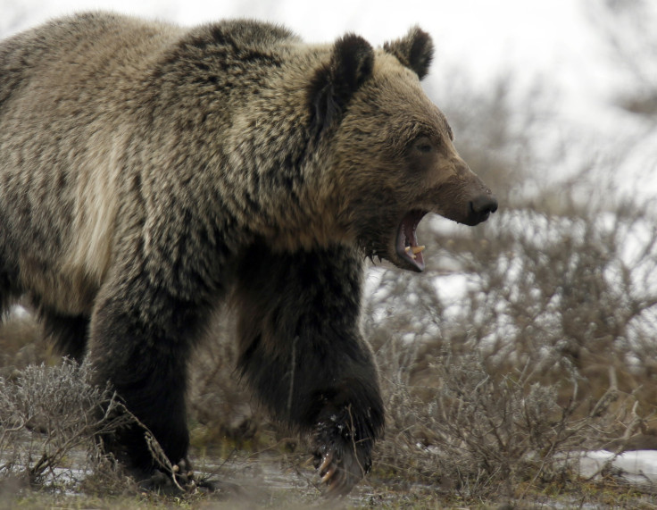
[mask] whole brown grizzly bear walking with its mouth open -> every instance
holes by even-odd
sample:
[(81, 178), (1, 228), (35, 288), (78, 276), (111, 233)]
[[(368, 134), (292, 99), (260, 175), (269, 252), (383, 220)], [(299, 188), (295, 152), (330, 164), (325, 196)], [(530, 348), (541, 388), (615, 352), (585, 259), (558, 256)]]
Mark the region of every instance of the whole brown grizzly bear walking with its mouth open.
[(245, 380), (311, 440), (328, 493), (368, 472), (384, 406), (364, 259), (421, 272), (425, 214), (497, 208), (420, 88), (432, 54), (418, 28), (310, 45), (106, 13), (0, 43), (0, 306), (31, 300), (113, 385), (143, 426), (106, 444), (134, 472), (156, 468), (144, 427), (186, 460), (187, 361), (226, 301)]

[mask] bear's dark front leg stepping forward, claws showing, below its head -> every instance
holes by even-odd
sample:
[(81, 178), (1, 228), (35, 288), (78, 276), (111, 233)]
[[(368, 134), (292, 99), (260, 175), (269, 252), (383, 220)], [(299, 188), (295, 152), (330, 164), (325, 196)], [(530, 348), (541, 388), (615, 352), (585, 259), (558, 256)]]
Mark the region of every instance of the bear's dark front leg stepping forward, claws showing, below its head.
[(346, 247), (280, 254), (258, 245), (237, 285), (240, 366), (270, 412), (312, 439), (328, 495), (370, 471), (384, 424), (359, 328), (362, 262)]

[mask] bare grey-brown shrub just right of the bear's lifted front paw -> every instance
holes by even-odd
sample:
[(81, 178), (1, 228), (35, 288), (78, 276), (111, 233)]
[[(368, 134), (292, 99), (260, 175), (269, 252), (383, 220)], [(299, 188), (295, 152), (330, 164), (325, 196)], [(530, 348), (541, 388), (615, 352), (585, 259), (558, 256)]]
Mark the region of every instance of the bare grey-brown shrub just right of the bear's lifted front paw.
[[(638, 426), (628, 412), (634, 398), (615, 380), (593, 405), (578, 394), (570, 372), (570, 400), (559, 402), (559, 385), (532, 380), (524, 371), (491, 372), (480, 355), (444, 353), (425, 368), (436, 386), (412, 382), (413, 365), (399, 365), (395, 340), (379, 349), (392, 377), (383, 377), (387, 434), (378, 447), (379, 471), (396, 480), (438, 486), (462, 497), (521, 498), (547, 482), (578, 481), (568, 459), (609, 444), (603, 431), (620, 431), (618, 451)], [(396, 365), (396, 369), (394, 369)]]

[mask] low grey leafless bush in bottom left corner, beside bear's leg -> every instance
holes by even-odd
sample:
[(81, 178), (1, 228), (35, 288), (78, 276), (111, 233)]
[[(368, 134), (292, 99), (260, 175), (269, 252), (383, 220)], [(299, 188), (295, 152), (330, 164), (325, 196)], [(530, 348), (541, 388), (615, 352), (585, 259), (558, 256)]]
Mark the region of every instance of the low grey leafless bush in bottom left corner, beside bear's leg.
[[(62, 468), (81, 452), (100, 457), (96, 439), (129, 422), (109, 389), (91, 386), (89, 368), (65, 360), (0, 378), (0, 477), (24, 483), (79, 480)], [(96, 462), (96, 464), (97, 464)], [(87, 473), (83, 473), (87, 474)]]

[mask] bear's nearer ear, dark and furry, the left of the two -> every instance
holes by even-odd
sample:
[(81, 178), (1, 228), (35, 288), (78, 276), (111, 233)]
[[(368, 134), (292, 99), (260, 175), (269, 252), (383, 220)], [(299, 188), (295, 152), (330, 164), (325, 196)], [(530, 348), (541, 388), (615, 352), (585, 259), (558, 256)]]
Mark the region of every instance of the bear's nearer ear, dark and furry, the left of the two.
[(374, 50), (365, 39), (353, 34), (337, 39), (330, 61), (315, 71), (308, 87), (312, 130), (317, 135), (340, 117), (373, 66)]

